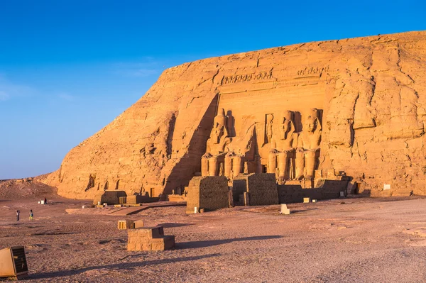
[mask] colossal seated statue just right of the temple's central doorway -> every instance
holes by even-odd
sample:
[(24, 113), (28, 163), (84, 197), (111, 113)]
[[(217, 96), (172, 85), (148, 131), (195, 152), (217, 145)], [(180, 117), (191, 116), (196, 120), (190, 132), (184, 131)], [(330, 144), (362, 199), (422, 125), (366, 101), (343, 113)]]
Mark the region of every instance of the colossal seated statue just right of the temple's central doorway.
[[(293, 112), (284, 111), (283, 120), (279, 124), (279, 131), (273, 135), (271, 140), (271, 151), (268, 155), (267, 167), (268, 173), (277, 173), (279, 182), (294, 177), (296, 143), (297, 133), (295, 133), (295, 125), (293, 123)], [(278, 170), (276, 170), (277, 167)]]

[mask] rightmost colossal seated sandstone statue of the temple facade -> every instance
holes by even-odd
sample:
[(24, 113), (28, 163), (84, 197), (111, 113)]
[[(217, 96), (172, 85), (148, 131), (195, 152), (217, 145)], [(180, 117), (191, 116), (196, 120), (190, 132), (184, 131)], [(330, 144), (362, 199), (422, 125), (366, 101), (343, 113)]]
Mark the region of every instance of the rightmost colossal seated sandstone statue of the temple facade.
[(320, 155), (322, 127), (318, 109), (311, 109), (305, 116), (302, 133), (299, 134), (296, 150), (296, 179), (313, 179), (317, 157)]

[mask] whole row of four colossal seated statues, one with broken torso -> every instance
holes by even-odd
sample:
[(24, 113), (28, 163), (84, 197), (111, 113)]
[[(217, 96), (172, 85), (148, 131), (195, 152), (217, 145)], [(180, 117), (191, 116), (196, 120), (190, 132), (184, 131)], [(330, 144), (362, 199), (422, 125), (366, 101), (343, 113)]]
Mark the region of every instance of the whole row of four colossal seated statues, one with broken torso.
[[(267, 172), (275, 173), (278, 179), (312, 179), (320, 152), (320, 112), (310, 109), (302, 117), (303, 130), (300, 133), (295, 132), (293, 111), (283, 111), (282, 117), (278, 126), (273, 126), (273, 116), (266, 116), (267, 140), (263, 146), (270, 147)], [(229, 135), (231, 119), (231, 115), (225, 116), (224, 109), (214, 117), (207, 150), (202, 156), (202, 176), (224, 175), (231, 179), (242, 171), (248, 171), (249, 165), (255, 172), (263, 171), (261, 157), (253, 152), (255, 128), (246, 131), (244, 137), (232, 138)]]

